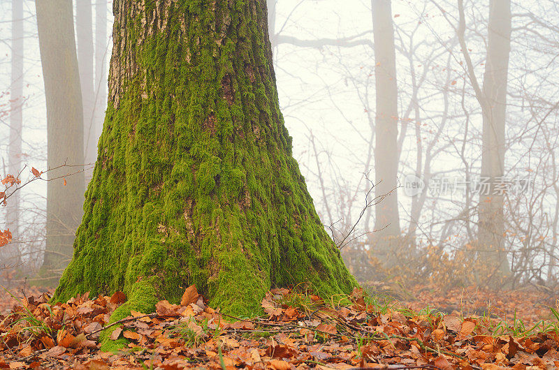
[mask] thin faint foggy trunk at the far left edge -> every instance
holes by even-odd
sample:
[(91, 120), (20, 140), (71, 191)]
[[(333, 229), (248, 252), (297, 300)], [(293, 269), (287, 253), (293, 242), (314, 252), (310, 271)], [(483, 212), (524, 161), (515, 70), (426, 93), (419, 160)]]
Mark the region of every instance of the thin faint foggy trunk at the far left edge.
[[(22, 165), (22, 105), (23, 105), (23, 3), (12, 1), (12, 70), (10, 78), (10, 142), (8, 144), (8, 174), (17, 177)], [(15, 239), (20, 228), (20, 192), (10, 197), (6, 207), (6, 225)], [(15, 266), (20, 262), (17, 243), (1, 249), (2, 262)]]

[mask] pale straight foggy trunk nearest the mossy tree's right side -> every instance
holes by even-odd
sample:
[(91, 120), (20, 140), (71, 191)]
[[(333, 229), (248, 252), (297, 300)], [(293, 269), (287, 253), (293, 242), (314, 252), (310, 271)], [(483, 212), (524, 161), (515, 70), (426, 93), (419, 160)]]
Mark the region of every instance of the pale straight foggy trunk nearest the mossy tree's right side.
[(372, 0), (372, 26), (375, 38), (375, 239), (379, 259), (394, 261), (395, 238), (400, 236), (398, 217), (398, 87), (394, 29), (390, 0)]

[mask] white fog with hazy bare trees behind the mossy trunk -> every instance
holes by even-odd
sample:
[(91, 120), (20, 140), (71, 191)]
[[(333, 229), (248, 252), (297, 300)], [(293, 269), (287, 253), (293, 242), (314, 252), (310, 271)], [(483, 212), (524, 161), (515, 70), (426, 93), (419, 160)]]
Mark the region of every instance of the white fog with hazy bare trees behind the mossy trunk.
[[(87, 182), (107, 105), (112, 2), (74, 3), (85, 160), (58, 161), (85, 165)], [(488, 3), (268, 1), (293, 155), (363, 286), (558, 288), (559, 3)], [(48, 249), (48, 184), (27, 184), (31, 167), (55, 167), (49, 139), (76, 143), (48, 137), (34, 1), (1, 0), (0, 17), (0, 177), (22, 180), (0, 210), (0, 230), (13, 234), (0, 266), (17, 285)], [(76, 172), (44, 177), (71, 186)]]

